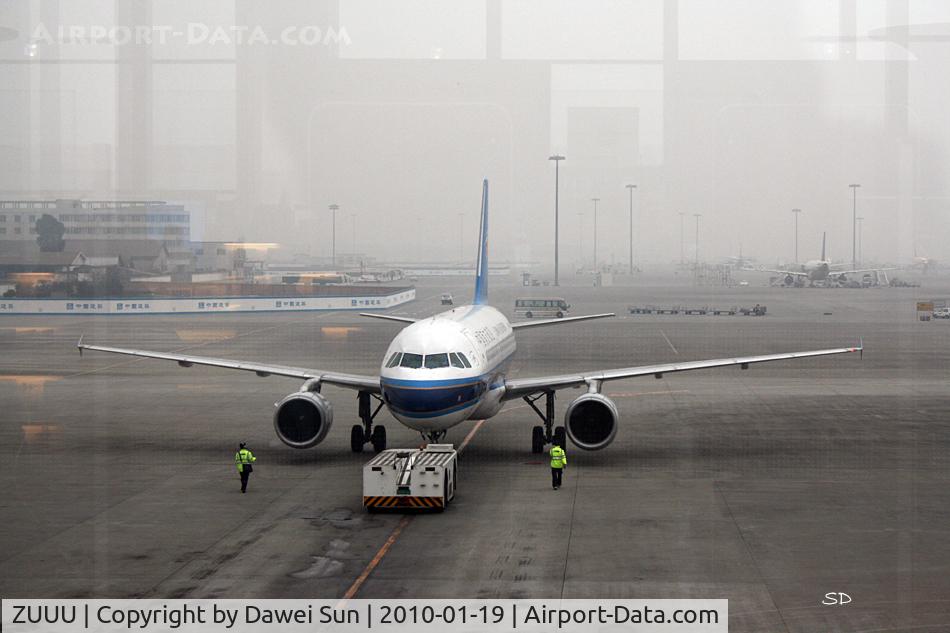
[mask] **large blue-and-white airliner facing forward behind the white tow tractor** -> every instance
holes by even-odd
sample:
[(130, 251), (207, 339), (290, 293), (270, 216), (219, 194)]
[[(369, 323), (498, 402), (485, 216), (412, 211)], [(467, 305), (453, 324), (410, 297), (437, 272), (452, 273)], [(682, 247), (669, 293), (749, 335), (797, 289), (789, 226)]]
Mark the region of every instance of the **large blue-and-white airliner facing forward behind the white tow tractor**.
[[(333, 422), (333, 408), (321, 393), (325, 385), (356, 390), (362, 424), (351, 429), (351, 448), (363, 450), (372, 444), (376, 451), (386, 447), (386, 429), (373, 420), (383, 406), (399, 422), (415, 429), (430, 441), (441, 440), (446, 431), (470, 419), (497, 414), (505, 402), (524, 399), (541, 418), (543, 426), (532, 429), (531, 447), (535, 453), (546, 443), (564, 445), (566, 437), (580, 448), (598, 450), (613, 441), (620, 415), (616, 405), (601, 393), (604, 382), (706, 369), (738, 366), (747, 369), (753, 363), (861, 352), (863, 346), (836, 349), (765, 354), (739, 358), (720, 358), (690, 362), (663, 363), (620, 369), (568, 373), (538, 378), (508, 378), (506, 372), (515, 353), (515, 330), (559, 325), (587, 319), (610, 317), (593, 314), (561, 319), (509, 323), (505, 316), (487, 305), (488, 299), (488, 181), (482, 184), (481, 230), (472, 305), (456, 307), (435, 316), (414, 320), (385, 314), (364, 316), (409, 323), (390, 343), (382, 360), (380, 375), (318, 371), (190, 354), (148, 352), (135, 349), (87, 345), (80, 337), (82, 350), (127, 354), (172, 360), (182, 367), (211, 365), (252, 371), (258, 376), (286, 376), (304, 381), (296, 391), (278, 402), (274, 412), (277, 436), (293, 448), (310, 448), (326, 437)], [(554, 394), (560, 389), (585, 387), (586, 392), (567, 408), (564, 426), (555, 427)], [(535, 405), (546, 399), (544, 410)], [(375, 406), (374, 406), (375, 401)]]

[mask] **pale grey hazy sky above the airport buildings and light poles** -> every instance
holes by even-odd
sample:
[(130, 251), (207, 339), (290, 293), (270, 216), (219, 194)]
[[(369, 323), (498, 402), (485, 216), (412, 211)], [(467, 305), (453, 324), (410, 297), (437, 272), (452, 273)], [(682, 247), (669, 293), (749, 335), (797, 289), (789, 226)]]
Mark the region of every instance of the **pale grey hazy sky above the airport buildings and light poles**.
[(948, 23), (925, 0), (4, 3), (0, 199), (166, 200), (192, 239), (317, 257), (336, 204), (338, 252), (458, 261), (488, 178), (493, 261), (550, 268), (561, 154), (564, 270), (592, 198), (599, 259), (626, 261), (628, 184), (643, 267), (679, 261), (681, 222), (686, 259), (792, 261), (793, 208), (800, 260), (827, 232), (850, 261), (854, 183), (864, 260), (946, 260)]

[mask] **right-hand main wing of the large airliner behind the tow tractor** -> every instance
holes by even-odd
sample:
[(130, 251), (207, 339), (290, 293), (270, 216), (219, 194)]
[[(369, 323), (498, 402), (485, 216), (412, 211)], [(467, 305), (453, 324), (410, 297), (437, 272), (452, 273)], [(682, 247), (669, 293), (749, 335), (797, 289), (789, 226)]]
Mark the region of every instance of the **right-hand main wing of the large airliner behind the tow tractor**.
[(760, 356), (740, 356), (738, 358), (716, 358), (712, 360), (694, 360), (682, 363), (664, 363), (660, 365), (642, 365), (640, 367), (624, 367), (621, 369), (605, 369), (577, 374), (562, 374), (559, 376), (543, 376), (539, 378), (513, 378), (505, 381), (505, 400), (521, 398), (523, 396), (581, 387), (601, 383), (606, 380), (620, 380), (622, 378), (636, 378), (638, 376), (655, 376), (662, 378), (663, 374), (671, 374), (693, 369), (711, 369), (713, 367), (730, 367), (738, 365), (748, 369), (755, 363), (768, 363), (776, 360), (793, 358), (811, 358), (812, 356), (830, 356), (832, 354), (848, 354), (859, 352), (863, 355), (863, 343), (858, 347), (837, 347), (834, 349), (819, 349), (807, 352), (788, 352), (785, 354), (763, 354)]

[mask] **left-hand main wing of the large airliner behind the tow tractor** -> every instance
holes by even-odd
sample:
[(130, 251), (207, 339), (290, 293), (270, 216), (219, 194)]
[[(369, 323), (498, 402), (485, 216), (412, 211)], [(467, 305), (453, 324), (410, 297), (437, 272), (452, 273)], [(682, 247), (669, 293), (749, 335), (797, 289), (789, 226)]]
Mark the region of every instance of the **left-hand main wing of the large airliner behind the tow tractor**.
[(284, 376), (287, 378), (316, 379), (322, 384), (336, 385), (349, 389), (359, 389), (372, 393), (380, 393), (378, 376), (361, 376), (358, 374), (341, 374), (329, 371), (318, 371), (315, 369), (306, 369), (304, 367), (288, 367), (286, 365), (267, 365), (264, 363), (254, 363), (227, 358), (211, 358), (208, 356), (192, 356), (191, 354), (176, 354), (168, 352), (149, 352), (140, 349), (128, 349), (122, 347), (107, 347), (104, 345), (87, 345), (82, 342), (76, 344), (79, 353), (83, 350), (92, 352), (106, 352), (109, 354), (122, 354), (125, 356), (139, 356), (141, 358), (157, 358), (159, 360), (172, 360), (182, 367), (191, 367), (192, 365), (208, 365), (210, 367), (222, 367), (224, 369), (240, 369), (242, 371), (252, 371), (262, 378), (267, 376)]

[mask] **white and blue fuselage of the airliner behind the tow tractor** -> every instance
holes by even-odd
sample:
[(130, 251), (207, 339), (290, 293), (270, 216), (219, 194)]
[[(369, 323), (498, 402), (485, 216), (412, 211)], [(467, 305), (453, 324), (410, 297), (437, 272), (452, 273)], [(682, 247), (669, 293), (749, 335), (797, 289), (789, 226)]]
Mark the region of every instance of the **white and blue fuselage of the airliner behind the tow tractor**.
[(441, 431), (502, 407), (515, 336), (487, 305), (459, 306), (417, 321), (390, 343), (380, 368), (383, 401), (397, 420)]

